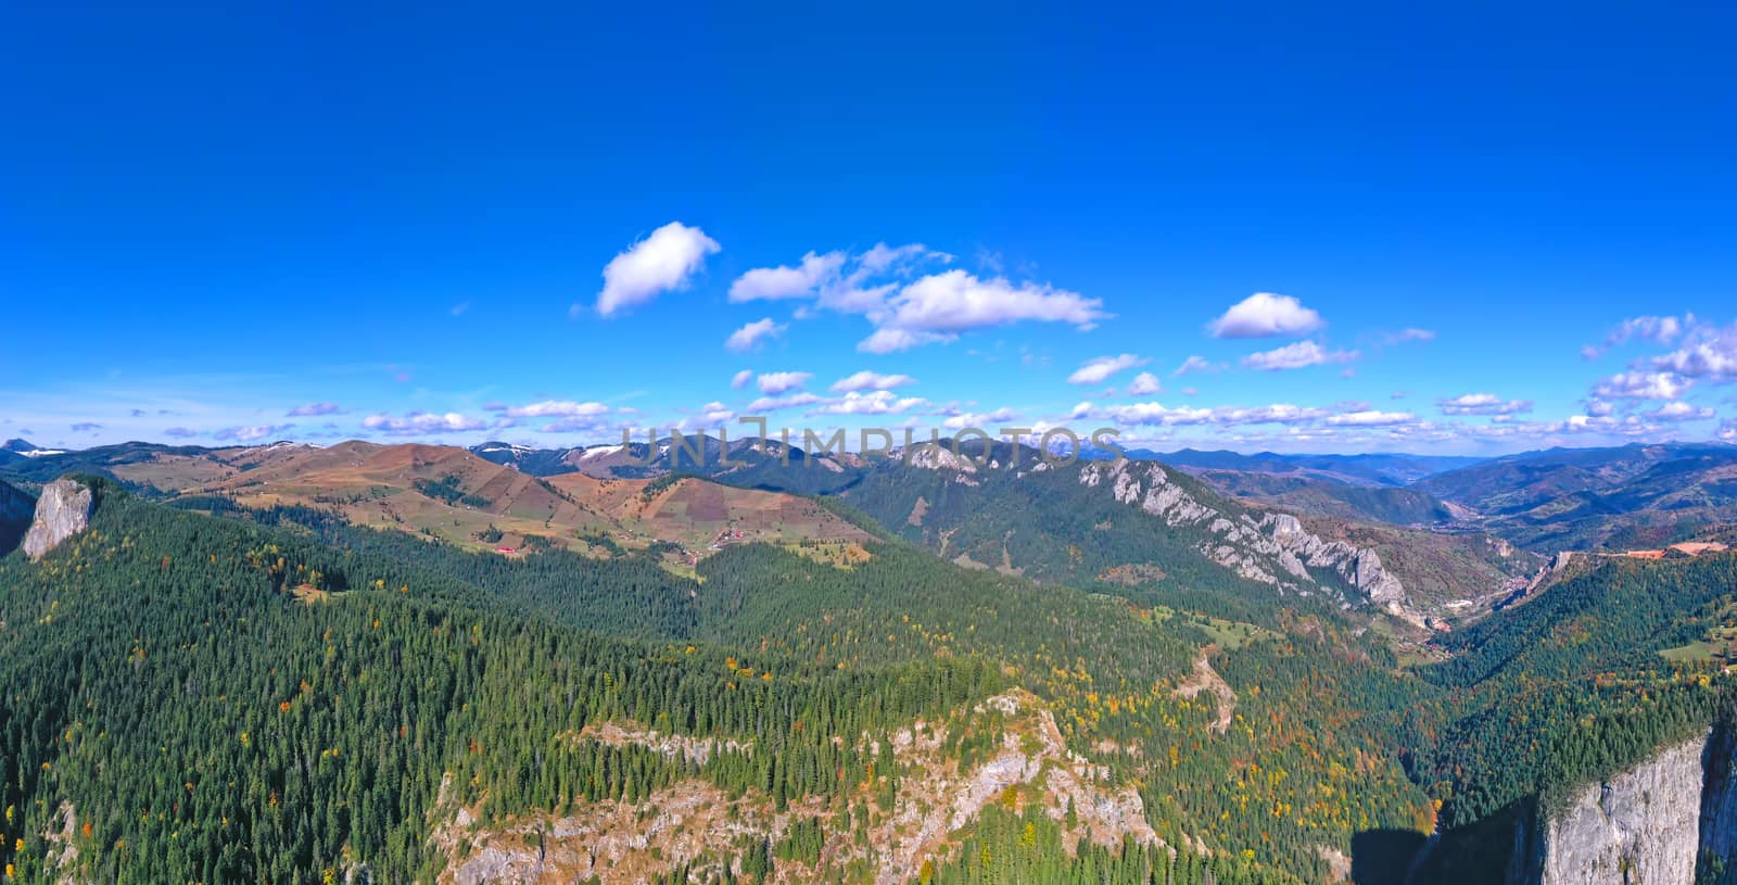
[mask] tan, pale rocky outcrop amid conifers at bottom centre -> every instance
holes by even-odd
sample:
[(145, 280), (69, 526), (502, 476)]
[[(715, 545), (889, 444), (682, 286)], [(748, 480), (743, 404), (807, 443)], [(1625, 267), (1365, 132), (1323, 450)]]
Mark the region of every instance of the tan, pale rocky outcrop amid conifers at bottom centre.
[[(481, 807), (457, 807), (452, 781), (441, 784), (436, 802), (433, 845), (446, 855), (436, 880), (441, 885), (545, 885), (601, 882), (629, 885), (667, 876), (690, 866), (693, 882), (717, 882), (749, 842), (778, 842), (799, 822), (827, 824), (825, 845), (816, 862), (780, 861), (766, 880), (775, 885), (834, 882), (849, 869), (853, 882), (905, 885), (922, 882), (926, 862), (957, 854), (968, 833), (994, 803), (1014, 802), (1065, 821), (1061, 843), (1072, 852), (1087, 840), (1100, 847), (1122, 843), (1166, 843), (1146, 822), (1145, 803), (1129, 784), (1115, 784), (1106, 767), (1096, 765), (1067, 746), (1049, 709), (1028, 692), (1014, 690), (974, 706), (978, 722), (999, 715), (988, 732), (994, 741), (981, 758), (962, 763), (947, 751), (948, 725), (917, 722), (889, 734), (858, 739), (858, 749), (874, 758), (882, 741), (891, 749), (898, 789), (891, 805), (856, 805), (862, 829), (839, 821), (839, 807), (808, 796), (780, 808), (769, 796), (749, 789), (730, 796), (703, 779), (677, 781), (653, 791), (643, 803), (604, 800), (580, 803), (565, 815), (518, 815), (486, 821)], [(954, 727), (964, 727), (955, 718)], [(693, 760), (693, 749), (709, 739), (658, 735), (641, 725), (608, 723), (587, 727), (575, 741), (634, 744), (664, 755)], [(839, 737), (842, 741), (842, 735)], [(752, 746), (731, 751), (752, 756)], [(874, 810), (870, 812), (870, 805)], [(865, 836), (858, 840), (858, 836)], [(1202, 850), (1199, 840), (1190, 847)]]

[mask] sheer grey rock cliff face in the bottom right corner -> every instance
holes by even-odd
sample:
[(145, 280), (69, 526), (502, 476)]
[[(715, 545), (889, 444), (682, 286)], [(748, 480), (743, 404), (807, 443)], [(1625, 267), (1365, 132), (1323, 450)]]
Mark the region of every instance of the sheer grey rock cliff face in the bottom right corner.
[(1509, 885), (1734, 885), (1728, 729), (1683, 741), (1515, 831)]

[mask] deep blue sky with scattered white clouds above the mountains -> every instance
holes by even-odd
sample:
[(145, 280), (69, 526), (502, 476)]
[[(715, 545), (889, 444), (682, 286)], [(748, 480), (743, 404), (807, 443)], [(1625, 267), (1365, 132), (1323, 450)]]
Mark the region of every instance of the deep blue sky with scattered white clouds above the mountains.
[(0, 436), (1737, 438), (1732, 7), (1205, 7), (9, 5)]

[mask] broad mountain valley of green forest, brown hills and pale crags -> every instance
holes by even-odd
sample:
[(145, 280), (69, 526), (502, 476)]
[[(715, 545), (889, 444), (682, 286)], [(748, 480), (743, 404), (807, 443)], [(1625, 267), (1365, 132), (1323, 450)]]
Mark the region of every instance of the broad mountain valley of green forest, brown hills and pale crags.
[[(1579, 828), (1556, 796), (1737, 715), (1737, 555), (1716, 541), (1544, 553), (1499, 522), (1351, 518), (1355, 496), (1226, 497), (1221, 475), (994, 445), (759, 454), (544, 475), (361, 442), (14, 461), (14, 523), (42, 523), (31, 497), (64, 516), (0, 558), (0, 668), (26, 689), (0, 716), (87, 706), (0, 748), (26, 808), (9, 862), (45, 882), (1563, 882), (1579, 861), (1513, 854), (1511, 828)], [(83, 478), (43, 483), (61, 475)], [(816, 475), (834, 490), (804, 492)], [(94, 774), (144, 742), (179, 749)], [(193, 756), (241, 791), (208, 793)], [(236, 826), (255, 848), (201, 848)]]

